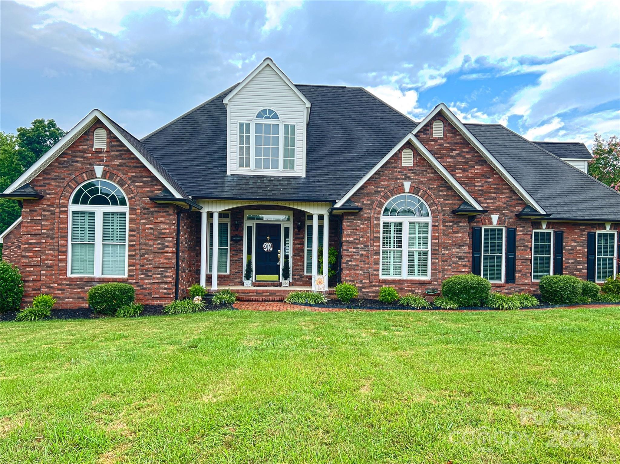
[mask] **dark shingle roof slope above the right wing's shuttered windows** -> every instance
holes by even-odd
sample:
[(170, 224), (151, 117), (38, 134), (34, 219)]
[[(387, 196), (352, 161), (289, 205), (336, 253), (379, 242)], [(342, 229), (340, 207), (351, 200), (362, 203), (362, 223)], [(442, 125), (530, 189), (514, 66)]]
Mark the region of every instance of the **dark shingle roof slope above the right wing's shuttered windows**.
[(620, 220), (620, 193), (495, 124), (466, 124), (550, 219)]

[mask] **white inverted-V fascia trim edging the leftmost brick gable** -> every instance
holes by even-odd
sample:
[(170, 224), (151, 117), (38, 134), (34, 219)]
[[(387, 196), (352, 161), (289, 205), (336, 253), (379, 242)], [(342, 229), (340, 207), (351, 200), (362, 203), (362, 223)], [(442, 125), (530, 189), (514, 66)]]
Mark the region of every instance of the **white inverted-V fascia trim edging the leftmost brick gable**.
[(64, 152), (76, 139), (79, 138), (84, 132), (87, 131), (92, 124), (100, 120), (104, 125), (112, 132), (117, 138), (125, 144), (125, 146), (130, 149), (130, 151), (136, 155), (136, 157), (146, 166), (146, 168), (153, 173), (153, 175), (161, 182), (166, 188), (175, 196), (175, 198), (184, 198), (179, 194), (175, 188), (170, 185), (170, 183), (162, 177), (162, 175), (157, 171), (153, 165), (151, 165), (144, 157), (140, 154), (138, 150), (125, 138), (121, 133), (114, 128), (110, 120), (108, 120), (107, 116), (99, 110), (92, 110), (88, 115), (79, 121), (78, 125), (76, 125), (71, 131), (66, 133), (63, 138), (60, 139), (53, 147), (51, 147), (47, 153), (45, 153), (40, 159), (33, 164), (30, 169), (24, 172), (20, 177), (15, 180), (9, 187), (4, 191), (4, 193), (11, 193), (15, 189), (24, 185), (25, 183), (30, 182), (33, 178), (37, 177), (37, 175), (42, 172), (53, 160), (55, 160), (62, 152)]

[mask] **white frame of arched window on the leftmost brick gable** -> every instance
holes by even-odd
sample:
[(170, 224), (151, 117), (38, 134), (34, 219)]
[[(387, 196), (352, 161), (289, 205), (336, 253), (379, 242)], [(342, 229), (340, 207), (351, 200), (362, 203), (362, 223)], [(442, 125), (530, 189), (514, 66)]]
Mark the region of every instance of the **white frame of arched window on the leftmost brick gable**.
[[(99, 205), (89, 205), (89, 204), (71, 204), (73, 201), (73, 196), (75, 195), (78, 189), (89, 182), (94, 180), (105, 180), (105, 182), (110, 182), (112, 185), (115, 185), (119, 188), (120, 191), (123, 191), (120, 186), (111, 182), (110, 180), (103, 178), (94, 178), (89, 179), (86, 182), (82, 182), (78, 185), (71, 193), (71, 197), (69, 198), (69, 214), (68, 216), (68, 234), (67, 234), (67, 276), (68, 277), (84, 277), (84, 278), (126, 278), (127, 277), (127, 269), (129, 265), (129, 206), (99, 206)], [(125, 192), (123, 191), (123, 195)], [(127, 196), (125, 195), (125, 201), (127, 201)], [(127, 201), (129, 204), (129, 201)], [(95, 256), (94, 256), (94, 273), (93, 274), (71, 274), (71, 253), (72, 253), (72, 243), (73, 240), (71, 238), (71, 219), (73, 216), (73, 211), (94, 211), (95, 213)], [(124, 212), (125, 213), (125, 273), (122, 275), (108, 275), (103, 274), (103, 222), (104, 222), (104, 212)]]

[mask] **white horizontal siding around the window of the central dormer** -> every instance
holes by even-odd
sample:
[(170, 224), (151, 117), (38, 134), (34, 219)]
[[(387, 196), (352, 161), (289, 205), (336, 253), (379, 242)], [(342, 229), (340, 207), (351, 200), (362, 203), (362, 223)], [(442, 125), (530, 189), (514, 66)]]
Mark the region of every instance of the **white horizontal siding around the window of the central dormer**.
[[(248, 170), (239, 169), (237, 162), (237, 133), (240, 122), (252, 122), (263, 108), (278, 113), (284, 124), (294, 124), (295, 169), (294, 170)], [(228, 102), (228, 173), (260, 175), (306, 175), (306, 105), (286, 84), (271, 66), (265, 66), (254, 78), (247, 82)], [(280, 133), (280, 146), (283, 134)], [(281, 167), (281, 165), (280, 165)]]

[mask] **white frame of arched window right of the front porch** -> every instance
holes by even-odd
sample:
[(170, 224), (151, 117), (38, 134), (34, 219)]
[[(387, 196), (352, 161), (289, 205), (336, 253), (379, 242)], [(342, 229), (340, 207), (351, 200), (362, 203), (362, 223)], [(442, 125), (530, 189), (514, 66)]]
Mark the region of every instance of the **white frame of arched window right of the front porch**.
[[(379, 225), (379, 279), (384, 280), (413, 280), (413, 281), (430, 281), (432, 272), (432, 254), (433, 254), (433, 217), (430, 212), (430, 208), (426, 201), (413, 193), (407, 193), (407, 195), (415, 196), (422, 200), (422, 203), (428, 210), (428, 217), (425, 216), (383, 216), (383, 208), (385, 208), (387, 202), (389, 202), (395, 196), (394, 195), (381, 207), (381, 224)], [(402, 255), (401, 255), (401, 275), (400, 276), (384, 276), (381, 273), (381, 263), (383, 263), (383, 223), (384, 222), (402, 222)], [(428, 267), (426, 276), (407, 276), (407, 264), (409, 258), (409, 223), (410, 222), (428, 222)], [(412, 248), (414, 250), (414, 248)]]

